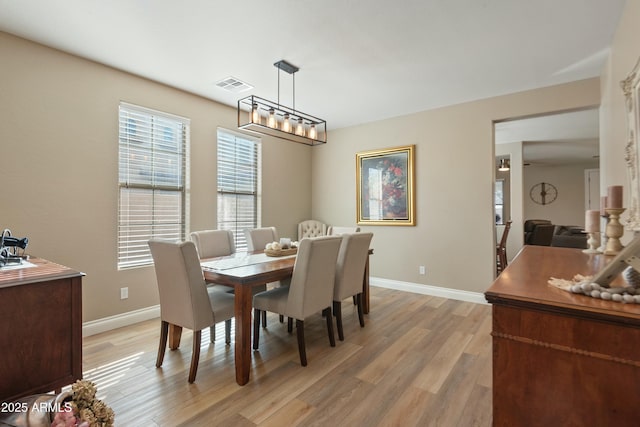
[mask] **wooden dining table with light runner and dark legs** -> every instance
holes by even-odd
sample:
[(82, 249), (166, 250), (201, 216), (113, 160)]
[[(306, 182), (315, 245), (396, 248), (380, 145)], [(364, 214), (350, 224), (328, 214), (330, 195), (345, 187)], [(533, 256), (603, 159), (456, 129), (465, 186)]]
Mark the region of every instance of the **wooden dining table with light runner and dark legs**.
[[(373, 250), (369, 250), (369, 255)], [(200, 260), (204, 279), (214, 285), (233, 287), (235, 295), (236, 382), (245, 385), (251, 371), (251, 311), (254, 286), (287, 279), (293, 274), (296, 256), (269, 256), (264, 251), (237, 252), (219, 258)], [(363, 311), (369, 312), (369, 259), (362, 282)], [(171, 330), (170, 330), (171, 335)], [(179, 340), (179, 337), (178, 337)], [(171, 342), (171, 337), (170, 337)]]

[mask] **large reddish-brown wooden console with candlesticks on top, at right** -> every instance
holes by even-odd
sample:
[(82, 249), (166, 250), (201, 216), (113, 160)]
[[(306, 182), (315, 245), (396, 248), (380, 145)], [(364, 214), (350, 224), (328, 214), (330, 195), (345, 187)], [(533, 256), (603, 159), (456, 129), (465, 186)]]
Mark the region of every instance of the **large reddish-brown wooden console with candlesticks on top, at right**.
[(525, 246), (486, 292), (495, 426), (638, 425), (640, 304), (547, 284), (550, 277), (591, 275), (610, 260)]

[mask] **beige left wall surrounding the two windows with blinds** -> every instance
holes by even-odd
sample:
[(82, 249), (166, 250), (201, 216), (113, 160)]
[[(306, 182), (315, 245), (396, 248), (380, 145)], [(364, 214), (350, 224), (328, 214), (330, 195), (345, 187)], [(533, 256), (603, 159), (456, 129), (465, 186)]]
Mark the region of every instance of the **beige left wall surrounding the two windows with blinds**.
[[(157, 304), (152, 267), (116, 268), (118, 104), (191, 119), (192, 230), (215, 228), (216, 130), (236, 128), (235, 110), (5, 33), (0, 58), (0, 228), (86, 273), (85, 321)], [(311, 148), (265, 138), (262, 156), (263, 224), (295, 236), (311, 214)]]

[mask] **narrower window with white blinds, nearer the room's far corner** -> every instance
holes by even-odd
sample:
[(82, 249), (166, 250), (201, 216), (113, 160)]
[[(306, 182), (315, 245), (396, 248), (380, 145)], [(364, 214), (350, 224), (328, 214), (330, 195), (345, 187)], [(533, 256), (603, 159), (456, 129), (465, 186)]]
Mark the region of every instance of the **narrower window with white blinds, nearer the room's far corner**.
[(246, 228), (259, 226), (260, 140), (218, 129), (218, 228), (247, 248)]

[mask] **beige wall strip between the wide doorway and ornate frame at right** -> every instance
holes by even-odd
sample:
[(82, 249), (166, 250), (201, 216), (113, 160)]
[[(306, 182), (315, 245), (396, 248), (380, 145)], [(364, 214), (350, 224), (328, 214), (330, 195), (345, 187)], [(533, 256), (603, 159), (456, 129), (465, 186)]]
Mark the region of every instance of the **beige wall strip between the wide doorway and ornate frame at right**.
[[(620, 81), (627, 77), (640, 58), (640, 1), (628, 1), (616, 30), (611, 54), (601, 78), (600, 107), (600, 193), (610, 185), (624, 185), (624, 201), (629, 201), (629, 177), (624, 161), (627, 115)], [(626, 213), (622, 215), (622, 222)], [(631, 238), (627, 231), (623, 242)]]

